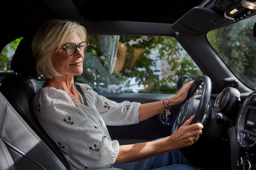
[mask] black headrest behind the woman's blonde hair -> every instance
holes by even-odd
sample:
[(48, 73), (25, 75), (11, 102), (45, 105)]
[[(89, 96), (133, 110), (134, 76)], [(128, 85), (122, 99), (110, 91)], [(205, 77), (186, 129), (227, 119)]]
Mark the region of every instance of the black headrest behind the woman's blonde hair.
[(36, 77), (35, 60), (32, 55), (32, 37), (23, 37), (12, 59), (11, 68), (14, 72)]

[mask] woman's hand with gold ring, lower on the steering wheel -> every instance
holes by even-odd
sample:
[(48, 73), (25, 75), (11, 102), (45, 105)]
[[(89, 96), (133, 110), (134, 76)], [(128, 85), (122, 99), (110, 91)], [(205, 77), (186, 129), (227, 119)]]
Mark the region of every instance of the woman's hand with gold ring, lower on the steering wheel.
[(175, 133), (169, 136), (170, 142), (176, 149), (188, 147), (195, 143), (195, 138), (202, 134), (201, 123), (191, 124), (194, 116), (191, 116)]

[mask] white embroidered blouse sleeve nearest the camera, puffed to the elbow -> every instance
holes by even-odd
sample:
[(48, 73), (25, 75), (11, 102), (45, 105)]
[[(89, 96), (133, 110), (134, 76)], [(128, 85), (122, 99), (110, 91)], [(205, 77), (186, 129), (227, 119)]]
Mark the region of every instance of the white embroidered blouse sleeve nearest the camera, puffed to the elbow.
[(119, 143), (111, 141), (100, 115), (85, 105), (75, 104), (64, 93), (48, 87), (47, 92), (36, 95), (35, 114), (45, 131), (76, 166), (114, 164)]

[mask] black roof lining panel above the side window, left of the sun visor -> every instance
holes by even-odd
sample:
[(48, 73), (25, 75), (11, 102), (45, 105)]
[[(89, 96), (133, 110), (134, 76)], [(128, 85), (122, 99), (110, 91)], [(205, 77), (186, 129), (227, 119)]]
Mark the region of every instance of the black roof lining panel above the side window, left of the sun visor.
[[(131, 22), (174, 23), (203, 0), (88, 0), (83, 6), (87, 20), (118, 20)], [(98, 5), (101, 4), (101, 5)], [(97, 6), (97, 10), (92, 8)]]

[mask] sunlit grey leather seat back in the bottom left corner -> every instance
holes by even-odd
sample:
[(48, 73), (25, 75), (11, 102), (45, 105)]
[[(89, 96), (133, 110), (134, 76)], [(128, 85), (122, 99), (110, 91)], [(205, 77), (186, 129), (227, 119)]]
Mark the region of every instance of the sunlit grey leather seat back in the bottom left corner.
[(2, 93), (0, 108), (0, 169), (66, 170)]

